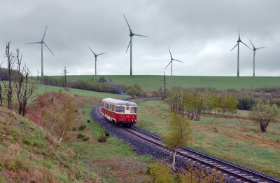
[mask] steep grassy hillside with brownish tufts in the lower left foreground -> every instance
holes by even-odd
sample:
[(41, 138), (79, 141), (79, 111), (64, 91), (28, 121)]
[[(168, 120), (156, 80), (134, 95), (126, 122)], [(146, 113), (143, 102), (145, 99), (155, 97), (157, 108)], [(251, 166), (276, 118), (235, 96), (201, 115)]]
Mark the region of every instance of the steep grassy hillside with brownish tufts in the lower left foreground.
[(0, 114), (0, 182), (83, 182), (84, 168), (66, 144), (13, 111), (1, 107)]

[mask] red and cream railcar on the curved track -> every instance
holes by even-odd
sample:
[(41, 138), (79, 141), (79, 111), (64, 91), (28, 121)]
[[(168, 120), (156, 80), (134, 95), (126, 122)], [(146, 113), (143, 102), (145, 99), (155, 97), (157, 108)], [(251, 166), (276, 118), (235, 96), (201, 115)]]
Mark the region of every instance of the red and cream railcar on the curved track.
[(115, 123), (132, 126), (137, 122), (137, 104), (125, 100), (105, 98), (102, 100), (102, 115)]

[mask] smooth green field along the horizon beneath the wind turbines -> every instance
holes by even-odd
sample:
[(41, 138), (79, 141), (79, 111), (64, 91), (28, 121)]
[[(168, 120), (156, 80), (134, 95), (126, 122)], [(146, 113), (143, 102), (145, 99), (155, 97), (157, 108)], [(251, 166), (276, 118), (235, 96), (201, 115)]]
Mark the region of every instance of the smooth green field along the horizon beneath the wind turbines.
[[(62, 76), (51, 76), (60, 79)], [(158, 90), (163, 88), (163, 76), (122, 76), (122, 75), (107, 75), (104, 76), (107, 80), (111, 79), (113, 82), (123, 84), (126, 86), (133, 86), (134, 83), (139, 85), (146, 91)], [(100, 76), (67, 76), (68, 81), (76, 81), (78, 79), (99, 79)], [(166, 76), (167, 88), (172, 86), (181, 86), (183, 88), (196, 87), (213, 87), (218, 90), (226, 90), (228, 88), (261, 88), (264, 86), (280, 86), (280, 77), (234, 77), (234, 76)]]

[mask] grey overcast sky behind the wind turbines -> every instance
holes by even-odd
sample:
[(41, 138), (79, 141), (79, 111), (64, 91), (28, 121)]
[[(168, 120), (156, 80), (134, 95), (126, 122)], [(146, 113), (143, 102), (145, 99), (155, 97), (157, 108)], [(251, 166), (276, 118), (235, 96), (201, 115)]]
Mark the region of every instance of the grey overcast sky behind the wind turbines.
[[(129, 75), (130, 31), (133, 36), (133, 74), (171, 75), (168, 47), (177, 76), (237, 76), (238, 40), (256, 50), (255, 76), (280, 76), (279, 0), (55, 0), (1, 1), (0, 56), (7, 67), (6, 42), (20, 48), (23, 62), (36, 76), (41, 72), (41, 41), (44, 75)], [(239, 27), (239, 28), (238, 28)], [(248, 37), (248, 39), (247, 39)], [(253, 76), (253, 50), (240, 48), (240, 76)]]

